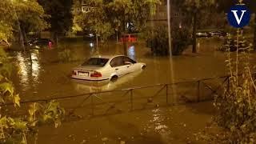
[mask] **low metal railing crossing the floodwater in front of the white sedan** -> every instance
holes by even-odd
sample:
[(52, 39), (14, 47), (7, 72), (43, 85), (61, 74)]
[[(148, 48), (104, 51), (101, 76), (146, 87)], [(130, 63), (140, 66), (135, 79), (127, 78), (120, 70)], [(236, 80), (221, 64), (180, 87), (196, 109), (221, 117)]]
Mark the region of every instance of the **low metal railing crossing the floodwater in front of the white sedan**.
[[(30, 103), (47, 103), (52, 100), (58, 100), (70, 118), (88, 118), (186, 102), (202, 102), (212, 100), (214, 94), (222, 93), (225, 84), (229, 87), (230, 76), (27, 100), (20, 102), (22, 110), (16, 114), (26, 113)], [(7, 103), (3, 106), (6, 105), (13, 104)]]

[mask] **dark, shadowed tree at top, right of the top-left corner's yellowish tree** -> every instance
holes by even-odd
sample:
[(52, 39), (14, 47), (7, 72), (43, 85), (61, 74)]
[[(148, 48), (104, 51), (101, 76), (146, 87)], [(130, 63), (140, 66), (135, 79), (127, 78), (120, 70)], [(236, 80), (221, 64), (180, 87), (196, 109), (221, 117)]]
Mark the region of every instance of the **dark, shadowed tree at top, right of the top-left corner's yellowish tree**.
[(73, 24), (72, 0), (38, 0), (38, 2), (43, 6), (46, 14), (50, 15), (47, 21), (50, 22), (54, 41), (58, 43), (58, 36), (66, 34)]

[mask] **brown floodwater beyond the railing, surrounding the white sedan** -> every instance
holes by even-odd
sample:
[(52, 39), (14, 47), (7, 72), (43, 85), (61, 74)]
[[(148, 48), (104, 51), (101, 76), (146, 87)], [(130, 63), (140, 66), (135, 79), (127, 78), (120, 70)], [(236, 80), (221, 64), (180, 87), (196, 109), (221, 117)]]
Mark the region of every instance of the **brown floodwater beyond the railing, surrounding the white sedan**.
[[(82, 64), (95, 54), (95, 47), (90, 42), (70, 43), (71, 62), (58, 62), (57, 50), (31, 50), (30, 53), (15, 52), (14, 61), (20, 68), (14, 74), (14, 85), (22, 99), (58, 97), (92, 92), (91, 85), (102, 86), (108, 82), (79, 82), (70, 79), (72, 68)], [(214, 78), (226, 74), (225, 57), (221, 52), (214, 52), (214, 47), (206, 46), (210, 51), (192, 55), (187, 50), (182, 56), (173, 58), (154, 57), (144, 44), (130, 45), (128, 55), (138, 62), (146, 63), (146, 70), (141, 74), (122, 78), (119, 84), (102, 86), (102, 90), (116, 90), (136, 86), (152, 86), (162, 83), (181, 82), (200, 78)], [(212, 50), (211, 50), (212, 49)], [(213, 54), (214, 53), (214, 54)], [(109, 44), (100, 47), (98, 54), (122, 54), (122, 44)], [(186, 70), (184, 70), (186, 67)], [(136, 74), (135, 74), (136, 75)], [(89, 85), (89, 86), (88, 86)], [(99, 88), (99, 86), (98, 86)]]

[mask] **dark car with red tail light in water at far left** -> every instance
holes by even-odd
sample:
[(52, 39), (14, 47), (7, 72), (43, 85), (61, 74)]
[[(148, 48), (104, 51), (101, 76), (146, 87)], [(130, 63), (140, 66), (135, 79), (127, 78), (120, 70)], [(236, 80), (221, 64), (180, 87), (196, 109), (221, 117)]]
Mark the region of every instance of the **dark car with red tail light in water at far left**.
[(51, 47), (54, 44), (49, 38), (35, 38), (28, 42), (28, 46), (34, 48)]

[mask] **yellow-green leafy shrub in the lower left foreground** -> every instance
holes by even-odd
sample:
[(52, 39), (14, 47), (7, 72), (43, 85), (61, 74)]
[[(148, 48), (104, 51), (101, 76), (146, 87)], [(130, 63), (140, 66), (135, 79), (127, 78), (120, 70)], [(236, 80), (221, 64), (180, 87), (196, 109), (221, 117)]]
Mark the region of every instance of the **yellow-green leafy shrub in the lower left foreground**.
[[(0, 64), (0, 143), (27, 144), (28, 137), (37, 137), (38, 126), (49, 123), (54, 123), (55, 127), (60, 126), (65, 110), (56, 101), (50, 101), (46, 105), (31, 102), (26, 109), (27, 114), (17, 115), (22, 112), (17, 111), (22, 105), (13, 83), (8, 78), (11, 71), (2, 67), (12, 65), (3, 50), (0, 50)], [(8, 103), (13, 103), (14, 110)], [(10, 110), (11, 113), (7, 112)]]

